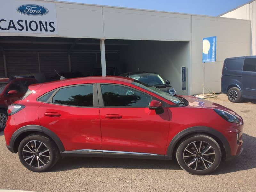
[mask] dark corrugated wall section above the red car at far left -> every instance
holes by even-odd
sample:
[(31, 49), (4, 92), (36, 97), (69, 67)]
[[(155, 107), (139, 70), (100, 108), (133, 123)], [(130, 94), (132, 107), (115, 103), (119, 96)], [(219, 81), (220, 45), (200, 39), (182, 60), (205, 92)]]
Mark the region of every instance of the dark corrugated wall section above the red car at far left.
[(6, 52), (5, 58), (8, 76), (39, 73), (37, 53)]

